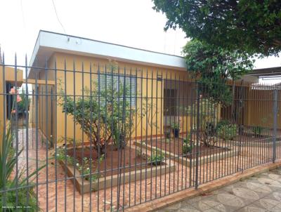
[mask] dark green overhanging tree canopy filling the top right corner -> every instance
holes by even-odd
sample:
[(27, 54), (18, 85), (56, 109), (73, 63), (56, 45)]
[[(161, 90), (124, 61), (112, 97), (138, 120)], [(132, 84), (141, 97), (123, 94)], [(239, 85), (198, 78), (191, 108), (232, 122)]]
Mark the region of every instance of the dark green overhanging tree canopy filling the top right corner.
[(165, 29), (230, 51), (277, 55), (281, 51), (281, 1), (153, 0), (165, 13)]

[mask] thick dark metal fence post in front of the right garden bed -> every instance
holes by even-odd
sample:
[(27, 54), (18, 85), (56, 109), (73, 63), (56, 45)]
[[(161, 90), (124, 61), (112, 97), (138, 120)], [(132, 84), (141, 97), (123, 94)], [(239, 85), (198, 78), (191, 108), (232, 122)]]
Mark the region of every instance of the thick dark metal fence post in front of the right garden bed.
[(200, 84), (197, 87), (197, 112), (196, 112), (196, 168), (195, 168), (195, 189), (198, 188), (198, 159), (199, 159), (199, 131), (200, 131)]

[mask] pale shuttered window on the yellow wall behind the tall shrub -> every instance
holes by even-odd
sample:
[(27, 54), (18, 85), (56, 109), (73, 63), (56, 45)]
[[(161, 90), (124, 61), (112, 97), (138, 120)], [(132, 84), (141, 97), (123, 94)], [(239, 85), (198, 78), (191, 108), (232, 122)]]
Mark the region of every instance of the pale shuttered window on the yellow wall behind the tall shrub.
[(125, 80), (126, 88), (129, 90), (126, 92), (126, 100), (131, 104), (132, 107), (136, 106), (136, 77), (129, 76), (125, 78), (123, 74), (100, 74), (100, 90), (102, 91), (105, 91), (105, 79), (106, 86), (112, 86), (113, 83), (113, 88), (115, 89), (115, 91), (123, 89), (122, 85), (124, 84)]

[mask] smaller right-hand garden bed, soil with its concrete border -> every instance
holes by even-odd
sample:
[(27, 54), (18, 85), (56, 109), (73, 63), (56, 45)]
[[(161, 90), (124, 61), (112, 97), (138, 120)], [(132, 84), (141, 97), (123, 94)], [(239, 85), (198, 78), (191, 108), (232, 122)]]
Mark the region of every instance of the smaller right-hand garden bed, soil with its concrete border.
[[(138, 141), (135, 145), (138, 147), (142, 146), (143, 152), (145, 152), (145, 148), (147, 148), (147, 150), (162, 150), (165, 157), (169, 157), (169, 159), (173, 159), (185, 166), (195, 166), (196, 163), (196, 147), (192, 148), (191, 153), (183, 154), (182, 138), (171, 138), (169, 143), (166, 143), (164, 138), (150, 140), (147, 144), (145, 142)], [(216, 145), (210, 147), (200, 146), (198, 151), (198, 162), (199, 164), (205, 164), (210, 161), (233, 157), (235, 155), (237, 155), (237, 151), (231, 150), (227, 147), (219, 147)]]

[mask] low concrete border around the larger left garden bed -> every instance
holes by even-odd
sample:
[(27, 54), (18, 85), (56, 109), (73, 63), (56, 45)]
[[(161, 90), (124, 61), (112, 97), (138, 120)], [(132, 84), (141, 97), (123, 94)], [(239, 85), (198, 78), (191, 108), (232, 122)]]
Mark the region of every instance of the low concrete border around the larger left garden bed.
[[(77, 168), (75, 168), (75, 176), (74, 176), (74, 166), (68, 165), (68, 164), (66, 165), (65, 161), (62, 161), (62, 160), (60, 160), (58, 162), (67, 172), (67, 176), (70, 178), (73, 178), (72, 180), (75, 180), (76, 188), (80, 194), (82, 194), (82, 190), (85, 194), (85, 193), (89, 193), (91, 191), (98, 191), (98, 190), (101, 190), (104, 188), (106, 189), (111, 186), (116, 186), (118, 183), (118, 175), (112, 175), (112, 177), (111, 176), (107, 176), (106, 178), (102, 177), (99, 179), (99, 181), (96, 180), (95, 182), (92, 182), (91, 187), (90, 187), (89, 180), (83, 180), (84, 182), (82, 183), (82, 177)], [(121, 174), (121, 184), (123, 185), (123, 183), (125, 183), (125, 184), (132, 183), (137, 180), (140, 180), (141, 178), (144, 179), (145, 176), (146, 176), (146, 178), (151, 178), (151, 177), (159, 176), (159, 175), (169, 173), (172, 171), (176, 171), (176, 165), (175, 164), (169, 165), (169, 164), (170, 164), (169, 160), (166, 160), (166, 162), (164, 164), (158, 165), (158, 166), (155, 166), (152, 168), (146, 168), (146, 169), (143, 168), (143, 169), (137, 170), (137, 171), (126, 172), (125, 174), (122, 173)], [(130, 173), (131, 173), (131, 177), (130, 177)], [(112, 183), (112, 185), (111, 185), (111, 183)]]

